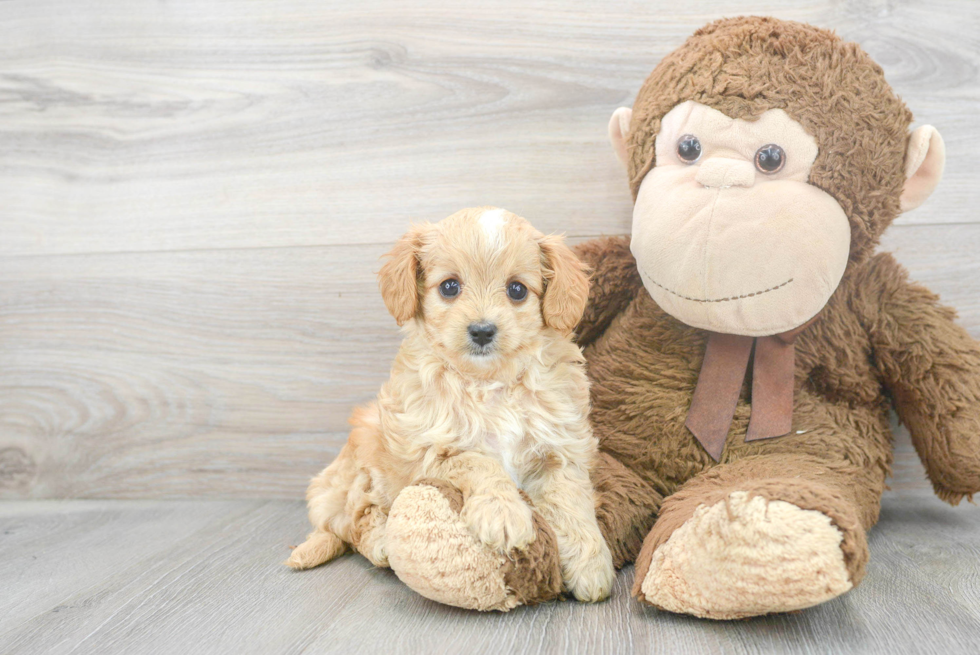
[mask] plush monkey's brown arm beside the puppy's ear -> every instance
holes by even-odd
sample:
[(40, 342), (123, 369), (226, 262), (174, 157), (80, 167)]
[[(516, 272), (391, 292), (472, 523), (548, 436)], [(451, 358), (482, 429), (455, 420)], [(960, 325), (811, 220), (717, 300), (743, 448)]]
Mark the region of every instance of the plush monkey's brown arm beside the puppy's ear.
[(575, 328), (576, 341), (584, 348), (599, 338), (613, 318), (626, 309), (643, 282), (630, 252), (629, 237), (592, 239), (573, 250), (593, 272), (589, 304)]

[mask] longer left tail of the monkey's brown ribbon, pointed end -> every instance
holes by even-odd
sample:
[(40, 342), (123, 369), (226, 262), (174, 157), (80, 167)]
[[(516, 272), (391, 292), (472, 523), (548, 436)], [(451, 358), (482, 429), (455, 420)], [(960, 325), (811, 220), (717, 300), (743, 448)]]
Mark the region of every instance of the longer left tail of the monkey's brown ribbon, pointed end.
[(752, 337), (736, 334), (708, 333), (704, 361), (684, 425), (716, 462), (725, 449), (728, 428), (735, 416), (752, 341)]

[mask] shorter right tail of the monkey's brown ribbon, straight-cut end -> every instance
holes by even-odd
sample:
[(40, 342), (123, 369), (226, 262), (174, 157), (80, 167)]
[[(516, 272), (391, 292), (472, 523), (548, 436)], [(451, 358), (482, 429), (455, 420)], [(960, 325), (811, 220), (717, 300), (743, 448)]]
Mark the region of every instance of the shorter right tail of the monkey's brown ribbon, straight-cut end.
[[(752, 418), (746, 441), (771, 439), (793, 429), (793, 373), (796, 370), (792, 339), (782, 335), (755, 340), (752, 358)], [(700, 382), (700, 381), (699, 381)]]

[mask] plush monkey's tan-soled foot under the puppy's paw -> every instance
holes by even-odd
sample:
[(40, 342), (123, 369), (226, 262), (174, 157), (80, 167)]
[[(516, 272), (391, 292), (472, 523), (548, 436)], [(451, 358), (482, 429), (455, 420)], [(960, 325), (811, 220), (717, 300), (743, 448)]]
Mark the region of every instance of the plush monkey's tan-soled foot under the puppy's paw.
[(554, 600), (561, 592), (555, 534), (534, 512), (537, 536), (507, 554), (479, 542), (460, 518), (463, 495), (439, 480), (420, 480), (398, 494), (388, 514), (388, 562), (426, 598), (480, 611), (506, 612)]

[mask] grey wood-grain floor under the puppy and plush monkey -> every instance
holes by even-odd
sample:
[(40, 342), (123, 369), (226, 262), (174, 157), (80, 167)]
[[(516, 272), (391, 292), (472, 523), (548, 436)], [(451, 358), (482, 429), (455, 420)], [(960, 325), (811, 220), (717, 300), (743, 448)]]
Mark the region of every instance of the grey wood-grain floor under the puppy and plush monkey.
[(479, 614), (417, 596), (348, 555), (293, 572), (285, 501), (0, 504), (0, 652), (969, 653), (980, 642), (980, 510), (886, 493), (862, 585), (787, 615), (657, 612), (619, 573), (597, 605)]

